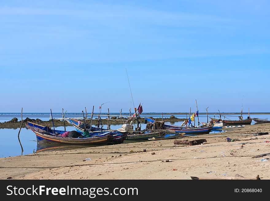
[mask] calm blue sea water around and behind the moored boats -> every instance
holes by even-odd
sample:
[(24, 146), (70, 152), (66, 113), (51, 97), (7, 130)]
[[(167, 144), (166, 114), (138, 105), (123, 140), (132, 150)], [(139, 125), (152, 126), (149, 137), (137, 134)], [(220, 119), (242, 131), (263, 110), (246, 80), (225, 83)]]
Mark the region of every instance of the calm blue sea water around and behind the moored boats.
[[(163, 117), (170, 117), (170, 114), (164, 114)], [(176, 114), (174, 115), (175, 117), (178, 118), (186, 118), (186, 115), (184, 114)], [(234, 116), (234, 117), (231, 117)], [(19, 120), (21, 118), (21, 114), (20, 113), (0, 113), (0, 122), (4, 122), (4, 121), (10, 121), (13, 117), (17, 117)], [(23, 119), (25, 119), (26, 117), (29, 117), (31, 119), (36, 119), (39, 118), (41, 120), (49, 120), (50, 118), (50, 114), (49, 113), (24, 113), (23, 114)], [(54, 118), (61, 118), (62, 114), (60, 113), (55, 113), (53, 114)], [(66, 114), (65, 117), (82, 117), (82, 114), (76, 114), (76, 113), (69, 113)], [(150, 114), (150, 115), (143, 115), (141, 114), (141, 117), (161, 117), (160, 114)], [(213, 115), (209, 115), (209, 117), (214, 117)], [(217, 117), (217, 116), (216, 116)], [(238, 116), (236, 115), (225, 115), (226, 118), (229, 118), (230, 120), (237, 120)], [(244, 115), (243, 118), (246, 118), (247, 115)], [(223, 118), (223, 117), (222, 117)], [(268, 114), (256, 114), (256, 115), (251, 115), (251, 118), (268, 118), (270, 119), (270, 115)], [(200, 122), (206, 122), (207, 121), (207, 117), (206, 114), (199, 114), (199, 121)], [(174, 124), (174, 125), (181, 125), (182, 122), (166, 122), (169, 124)], [(252, 124), (254, 124), (254, 122), (252, 122)], [(198, 118), (196, 117), (195, 119), (195, 125), (198, 125)], [(145, 124), (141, 124), (142, 129), (145, 128)], [(120, 128), (120, 125), (111, 125), (111, 129), (117, 129)], [(103, 125), (103, 128), (107, 128), (107, 125)], [(56, 127), (57, 130), (64, 130), (64, 127)], [(72, 131), (75, 130), (74, 127), (72, 126), (68, 126), (67, 131)], [(18, 132), (19, 132), (19, 128), (16, 129), (12, 129), (12, 128), (4, 128), (4, 129), (0, 129), (0, 136), (1, 136), (1, 141), (0, 141), (0, 157), (9, 157), (9, 156), (17, 156), (17, 155), (21, 155), (21, 146), (18, 140)], [(221, 130), (219, 131), (214, 131), (211, 133), (215, 133), (215, 132), (222, 132)], [(21, 132), (20, 132), (20, 141), (23, 147), (23, 155), (25, 154), (31, 154), (33, 153), (33, 151), (36, 151), (37, 149), (40, 148), (45, 148), (45, 147), (40, 147), (37, 146), (37, 141), (36, 141), (36, 135), (33, 133), (33, 131), (28, 130), (26, 128), (22, 128)], [(53, 145), (56, 146), (56, 145)], [(63, 149), (66, 148), (72, 148), (73, 146), (69, 146), (69, 147), (62, 147)], [(59, 148), (59, 147), (57, 147)], [(74, 147), (74, 148), (78, 148), (78, 147)]]

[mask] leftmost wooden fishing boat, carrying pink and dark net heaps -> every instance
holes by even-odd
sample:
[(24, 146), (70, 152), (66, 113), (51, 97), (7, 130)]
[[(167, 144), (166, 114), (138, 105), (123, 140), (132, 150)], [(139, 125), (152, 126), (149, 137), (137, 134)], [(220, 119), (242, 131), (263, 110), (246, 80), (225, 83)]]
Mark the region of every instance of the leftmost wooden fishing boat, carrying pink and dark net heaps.
[(63, 137), (66, 131), (61, 130), (51, 130), (47, 126), (42, 126), (34, 124), (32, 122), (27, 122), (25, 124), (26, 128), (32, 130), (37, 137), (38, 143), (64, 143), (64, 144), (107, 144), (112, 140), (110, 132), (104, 132), (103, 134), (92, 134), (90, 137), (84, 138), (72, 138)]

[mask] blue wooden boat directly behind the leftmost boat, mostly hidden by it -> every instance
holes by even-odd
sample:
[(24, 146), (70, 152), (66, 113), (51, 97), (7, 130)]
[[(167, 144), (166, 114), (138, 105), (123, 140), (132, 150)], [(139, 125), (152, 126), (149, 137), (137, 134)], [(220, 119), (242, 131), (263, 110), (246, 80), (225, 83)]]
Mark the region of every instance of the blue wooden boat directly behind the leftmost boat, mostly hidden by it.
[[(69, 122), (73, 127), (76, 129), (78, 132), (84, 132), (84, 130), (87, 130), (88, 132), (91, 133), (101, 133), (102, 131), (104, 132), (110, 132), (112, 135), (111, 140), (108, 143), (111, 144), (121, 144), (124, 142), (126, 139), (127, 135), (129, 132), (119, 132), (117, 130), (111, 130), (111, 129), (103, 129), (103, 128), (96, 128), (91, 126), (89, 124), (82, 124), (80, 125), (80, 122), (76, 119), (67, 119), (67, 122)], [(80, 125), (80, 126), (79, 126)]]

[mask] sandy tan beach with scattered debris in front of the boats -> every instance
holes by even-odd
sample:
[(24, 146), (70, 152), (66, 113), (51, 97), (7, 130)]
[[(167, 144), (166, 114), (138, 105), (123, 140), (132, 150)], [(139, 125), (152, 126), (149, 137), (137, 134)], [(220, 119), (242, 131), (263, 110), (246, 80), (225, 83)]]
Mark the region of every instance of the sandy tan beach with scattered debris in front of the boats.
[[(73, 150), (41, 151), (0, 158), (0, 179), (191, 179), (232, 177), (270, 179), (270, 124), (246, 125), (227, 132), (184, 137), (206, 139), (201, 145), (175, 145), (174, 140), (123, 143)], [(226, 142), (225, 139), (238, 139)], [(143, 152), (146, 149), (146, 152)], [(155, 154), (153, 154), (155, 153)], [(161, 162), (170, 160), (171, 162)]]

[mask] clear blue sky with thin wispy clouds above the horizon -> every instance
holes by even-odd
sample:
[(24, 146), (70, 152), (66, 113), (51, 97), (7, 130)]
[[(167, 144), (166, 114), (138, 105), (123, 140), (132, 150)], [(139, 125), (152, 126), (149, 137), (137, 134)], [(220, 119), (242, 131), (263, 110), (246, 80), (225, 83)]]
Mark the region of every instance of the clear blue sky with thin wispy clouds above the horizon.
[(270, 111), (269, 1), (1, 1), (1, 112)]

